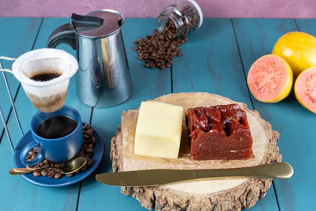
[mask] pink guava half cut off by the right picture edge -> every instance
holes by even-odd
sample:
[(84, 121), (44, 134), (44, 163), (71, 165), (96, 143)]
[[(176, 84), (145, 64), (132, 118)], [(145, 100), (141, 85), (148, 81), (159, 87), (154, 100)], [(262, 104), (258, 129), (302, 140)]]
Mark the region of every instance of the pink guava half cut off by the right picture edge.
[(294, 84), (294, 93), (302, 106), (316, 113), (316, 66), (307, 68), (298, 75)]

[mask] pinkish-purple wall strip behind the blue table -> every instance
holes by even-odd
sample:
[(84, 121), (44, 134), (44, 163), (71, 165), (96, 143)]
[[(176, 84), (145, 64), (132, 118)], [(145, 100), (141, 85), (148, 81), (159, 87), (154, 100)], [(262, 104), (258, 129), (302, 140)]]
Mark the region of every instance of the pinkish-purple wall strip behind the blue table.
[[(204, 17), (316, 18), (315, 0), (196, 0)], [(126, 18), (156, 18), (177, 0), (0, 0), (0, 17), (70, 17), (113, 9)]]

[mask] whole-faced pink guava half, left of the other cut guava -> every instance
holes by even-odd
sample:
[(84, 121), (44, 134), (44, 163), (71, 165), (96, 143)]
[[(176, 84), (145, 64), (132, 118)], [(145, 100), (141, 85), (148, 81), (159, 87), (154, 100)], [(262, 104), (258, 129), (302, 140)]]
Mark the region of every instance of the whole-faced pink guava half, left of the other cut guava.
[(277, 103), (292, 89), (293, 73), (280, 56), (268, 54), (258, 58), (250, 67), (247, 84), (253, 97), (265, 103)]

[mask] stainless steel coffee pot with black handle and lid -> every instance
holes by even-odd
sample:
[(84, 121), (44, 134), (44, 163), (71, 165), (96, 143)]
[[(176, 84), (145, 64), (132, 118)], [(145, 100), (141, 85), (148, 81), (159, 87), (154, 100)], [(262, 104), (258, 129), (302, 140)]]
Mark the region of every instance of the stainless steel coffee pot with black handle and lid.
[(47, 48), (68, 44), (77, 50), (77, 96), (91, 107), (107, 108), (125, 102), (133, 92), (121, 27), (123, 14), (97, 10), (73, 14), (71, 23), (53, 31)]

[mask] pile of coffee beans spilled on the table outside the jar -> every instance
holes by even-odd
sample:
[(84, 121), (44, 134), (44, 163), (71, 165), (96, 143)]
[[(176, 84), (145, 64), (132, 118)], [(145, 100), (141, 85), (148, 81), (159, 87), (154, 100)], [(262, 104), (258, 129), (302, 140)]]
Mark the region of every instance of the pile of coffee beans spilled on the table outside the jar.
[[(170, 21), (171, 22), (171, 21)], [(138, 52), (138, 59), (145, 60), (145, 67), (155, 68), (171, 67), (172, 58), (181, 56), (178, 48), (181, 44), (185, 43), (188, 38), (173, 40), (174, 24), (168, 24), (168, 29), (163, 33), (159, 33), (154, 29), (152, 35), (147, 35), (146, 38), (138, 38), (134, 43), (137, 45), (133, 49)]]

